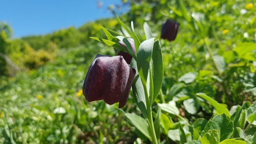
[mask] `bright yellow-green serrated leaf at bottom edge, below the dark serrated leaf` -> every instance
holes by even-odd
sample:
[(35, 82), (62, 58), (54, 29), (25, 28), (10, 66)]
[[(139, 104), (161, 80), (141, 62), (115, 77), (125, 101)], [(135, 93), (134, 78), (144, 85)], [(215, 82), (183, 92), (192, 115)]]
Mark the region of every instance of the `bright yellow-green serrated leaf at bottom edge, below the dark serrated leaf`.
[(220, 131), (219, 130), (208, 130), (202, 138), (199, 138), (202, 144), (219, 144)]

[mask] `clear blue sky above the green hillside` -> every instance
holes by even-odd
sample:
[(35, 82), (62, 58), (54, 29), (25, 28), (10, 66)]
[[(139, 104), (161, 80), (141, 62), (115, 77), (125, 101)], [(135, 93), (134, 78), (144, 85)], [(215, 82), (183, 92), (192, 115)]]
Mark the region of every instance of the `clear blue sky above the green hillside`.
[(122, 0), (100, 1), (101, 8), (97, 0), (0, 0), (0, 21), (11, 26), (13, 37), (42, 35), (113, 17), (108, 6), (122, 4)]

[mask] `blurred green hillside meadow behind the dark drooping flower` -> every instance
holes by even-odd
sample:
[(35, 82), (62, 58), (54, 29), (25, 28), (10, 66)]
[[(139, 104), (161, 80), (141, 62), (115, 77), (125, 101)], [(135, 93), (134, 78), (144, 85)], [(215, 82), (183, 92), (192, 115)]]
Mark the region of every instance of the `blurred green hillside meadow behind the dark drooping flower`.
[[(193, 27), (189, 22), (192, 17), (182, 15), (177, 0), (123, 3), (130, 5), (130, 11), (119, 17), (127, 25), (133, 21), (140, 41), (145, 40), (145, 21), (157, 38), (165, 20), (180, 23), (175, 41), (160, 41), (164, 100), (158, 98), (157, 103), (176, 101), (192, 124), (196, 118), (209, 119), (215, 114), (205, 102), (194, 99), (192, 106), (184, 102), (197, 92), (228, 108), (256, 100), (255, 2), (184, 0), (188, 16), (200, 21), (203, 29)], [(110, 10), (119, 13), (121, 8)], [(122, 109), (116, 104), (84, 100), (81, 88), (93, 58), (96, 54), (114, 55), (114, 49), (89, 38), (104, 37), (100, 27), (118, 32), (121, 29), (116, 18), (109, 18), (47, 35), (12, 39), (12, 29), (0, 23), (0, 143), (121, 144), (143, 138), (123, 113), (141, 115), (132, 96)], [(219, 56), (217, 70), (207, 46)], [(195, 111), (188, 111), (190, 107)], [(156, 109), (154, 104), (154, 116)], [(161, 140), (169, 138), (161, 134)], [(148, 142), (146, 138), (144, 142)]]

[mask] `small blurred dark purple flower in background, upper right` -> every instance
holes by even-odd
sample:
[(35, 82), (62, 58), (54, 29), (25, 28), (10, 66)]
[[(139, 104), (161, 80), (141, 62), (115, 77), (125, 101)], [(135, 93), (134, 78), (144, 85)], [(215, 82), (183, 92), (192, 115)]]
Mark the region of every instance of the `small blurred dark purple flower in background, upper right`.
[(176, 21), (172, 21), (170, 19), (166, 20), (162, 27), (161, 38), (167, 39), (168, 41), (175, 40), (179, 25), (180, 24)]

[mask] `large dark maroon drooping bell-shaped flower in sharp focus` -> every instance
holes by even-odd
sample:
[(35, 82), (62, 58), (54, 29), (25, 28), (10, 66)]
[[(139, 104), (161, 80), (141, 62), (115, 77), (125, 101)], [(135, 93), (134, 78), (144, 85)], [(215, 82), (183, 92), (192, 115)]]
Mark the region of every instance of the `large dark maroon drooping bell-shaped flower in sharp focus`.
[(85, 99), (89, 102), (103, 99), (109, 105), (119, 102), (119, 108), (123, 108), (135, 73), (135, 69), (125, 62), (123, 56), (98, 54), (85, 76)]

